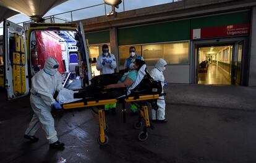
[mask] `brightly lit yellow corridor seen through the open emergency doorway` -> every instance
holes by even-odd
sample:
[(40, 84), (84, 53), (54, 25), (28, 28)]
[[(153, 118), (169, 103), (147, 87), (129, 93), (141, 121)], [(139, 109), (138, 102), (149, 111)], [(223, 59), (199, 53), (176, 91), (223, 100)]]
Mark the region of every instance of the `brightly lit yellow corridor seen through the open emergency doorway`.
[(198, 84), (231, 84), (233, 46), (198, 48)]

